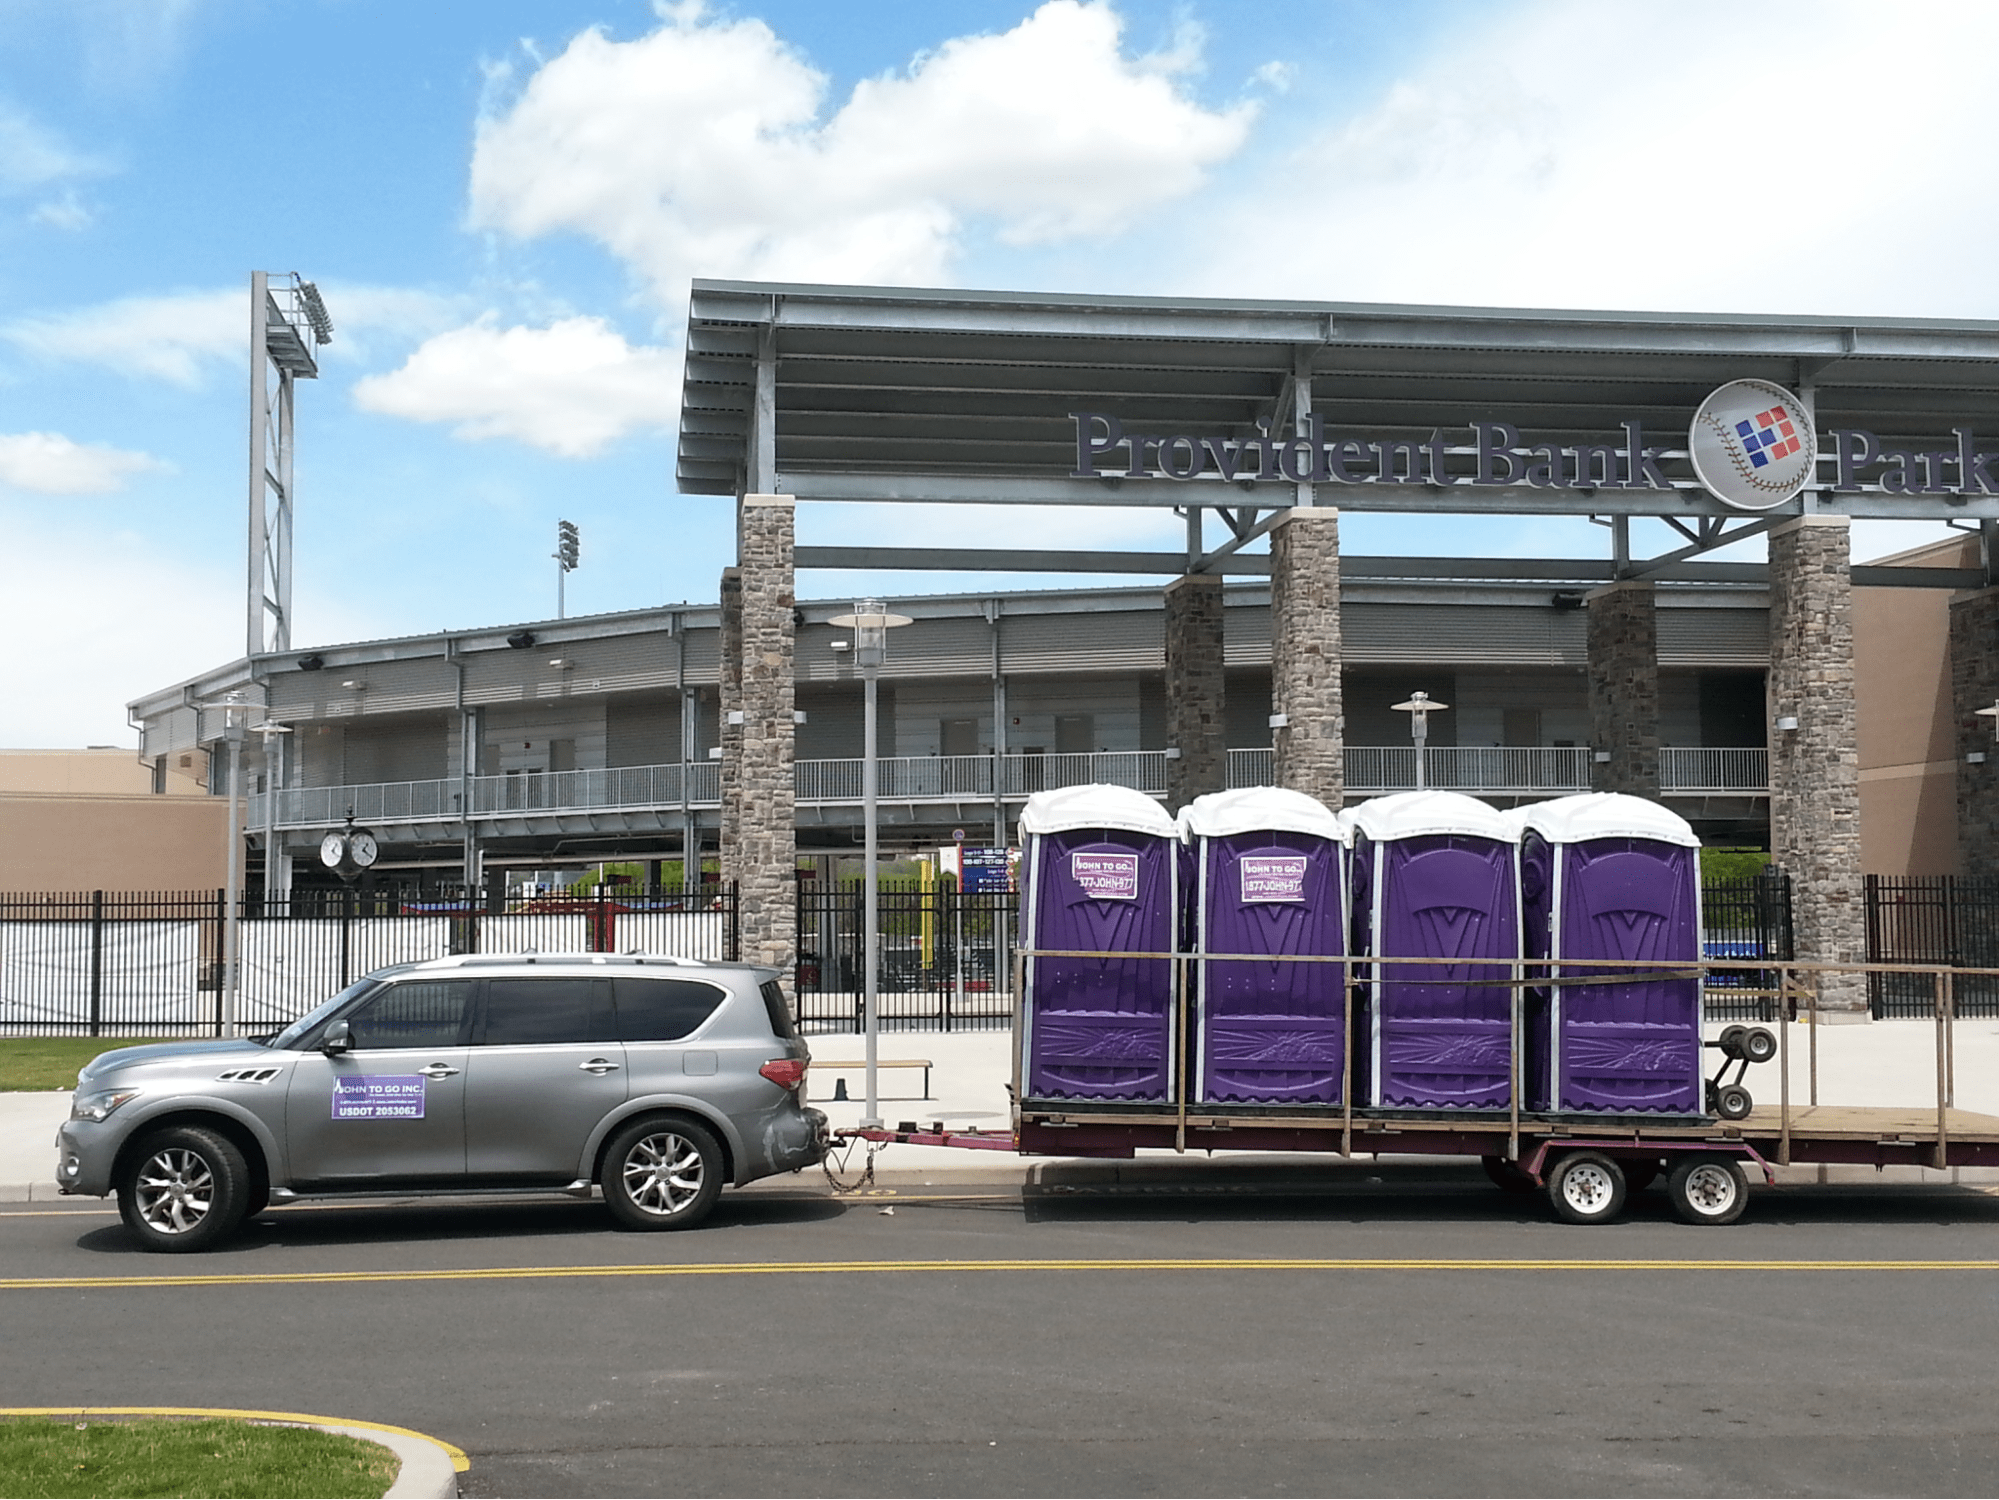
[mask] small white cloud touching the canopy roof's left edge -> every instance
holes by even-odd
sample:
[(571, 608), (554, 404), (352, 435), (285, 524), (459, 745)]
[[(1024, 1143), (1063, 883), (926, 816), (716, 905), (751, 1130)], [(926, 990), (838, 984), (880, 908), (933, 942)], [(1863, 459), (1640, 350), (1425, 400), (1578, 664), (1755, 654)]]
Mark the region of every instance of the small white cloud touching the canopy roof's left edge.
[(626, 344), (602, 318), (502, 328), (488, 314), (424, 342), (400, 370), (360, 380), (354, 400), (414, 422), (456, 422), (460, 438), (592, 458), (628, 432), (676, 424), (680, 354)]

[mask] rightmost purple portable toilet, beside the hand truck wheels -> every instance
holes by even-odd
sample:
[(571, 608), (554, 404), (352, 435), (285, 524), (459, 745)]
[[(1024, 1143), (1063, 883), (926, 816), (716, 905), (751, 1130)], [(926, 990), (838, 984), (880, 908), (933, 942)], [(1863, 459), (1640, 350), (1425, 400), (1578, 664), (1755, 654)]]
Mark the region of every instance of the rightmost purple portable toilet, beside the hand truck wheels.
[[(1701, 960), (1701, 840), (1637, 796), (1591, 792), (1521, 808), (1527, 954), (1551, 978), (1611, 974), (1589, 958)], [(1527, 1100), (1577, 1114), (1699, 1114), (1701, 982), (1553, 984), (1527, 1008)]]

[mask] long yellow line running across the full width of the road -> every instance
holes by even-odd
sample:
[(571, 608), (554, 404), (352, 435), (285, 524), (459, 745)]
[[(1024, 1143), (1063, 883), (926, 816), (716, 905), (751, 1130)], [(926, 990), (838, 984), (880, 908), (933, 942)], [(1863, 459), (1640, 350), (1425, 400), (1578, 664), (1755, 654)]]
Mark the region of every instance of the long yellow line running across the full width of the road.
[(328, 1282), (522, 1282), (636, 1276), (874, 1276), (972, 1272), (1213, 1272), (1213, 1270), (1681, 1270), (1681, 1272), (1911, 1272), (1999, 1270), (1999, 1260), (720, 1260), (680, 1266), (482, 1266), (454, 1270), (294, 1270), (212, 1276), (6, 1276), (4, 1292), (98, 1290), (120, 1286), (320, 1286)]

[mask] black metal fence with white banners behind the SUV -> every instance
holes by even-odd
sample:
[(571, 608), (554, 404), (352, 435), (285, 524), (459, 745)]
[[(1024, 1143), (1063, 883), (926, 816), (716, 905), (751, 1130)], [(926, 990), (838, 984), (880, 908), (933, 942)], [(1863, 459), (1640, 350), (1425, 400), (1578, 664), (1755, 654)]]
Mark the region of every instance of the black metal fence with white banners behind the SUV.
[[(530, 900), (436, 884), (298, 890), (284, 902), (254, 892), (238, 918), (236, 1014), (250, 1032), (420, 958), (738, 952), (736, 892), (714, 884)], [(0, 894), (0, 1034), (214, 1034), (226, 920), (222, 890)]]

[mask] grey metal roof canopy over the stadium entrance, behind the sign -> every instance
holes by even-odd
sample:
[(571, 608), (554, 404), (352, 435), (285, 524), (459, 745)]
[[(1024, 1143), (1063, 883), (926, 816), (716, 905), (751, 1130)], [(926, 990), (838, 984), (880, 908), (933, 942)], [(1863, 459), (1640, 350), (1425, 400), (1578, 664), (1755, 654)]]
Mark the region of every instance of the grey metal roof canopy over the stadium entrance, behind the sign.
[[(1999, 494), (1887, 494), (1877, 482), (1835, 494), (1831, 454), (1827, 488), (1767, 512), (1725, 506), (1691, 478), (1685, 442), (1701, 400), (1737, 378), (1795, 390), (1821, 432), (1863, 428), (1915, 452), (1955, 452), (1957, 428), (1987, 424), (1999, 438), (1999, 322), (1983, 320), (696, 280), (678, 482), (686, 494), (800, 500), (1213, 508), (1233, 538), (1197, 552), (1189, 526), (1181, 566), (1193, 572), (1235, 570), (1223, 560), (1277, 510), (1311, 504), (1313, 488), (1317, 504), (1341, 510), (1611, 518), (1615, 576), (1655, 576), (1807, 508), (1977, 520), (1987, 532), (1999, 520)], [(1379, 442), (1423, 442), (1441, 428), (1459, 452), (1473, 422), (1567, 446), (1621, 442), (1619, 424), (1637, 420), (1647, 444), (1667, 448), (1673, 488), (1073, 478), (1073, 412), (1115, 414), (1127, 430), (1235, 436), (1259, 424), (1295, 430), (1315, 414), (1329, 436)], [(1687, 546), (1633, 562), (1617, 524), (1627, 516), (1663, 518)], [(896, 548), (868, 552), (872, 566), (898, 566)], [(852, 554), (800, 548), (798, 560), (856, 566)], [(1095, 570), (1115, 556), (934, 548), (900, 566)]]

